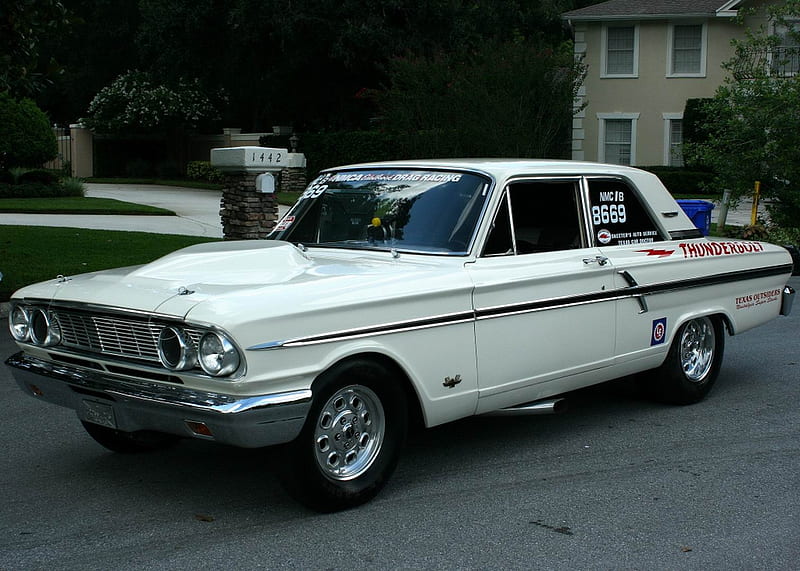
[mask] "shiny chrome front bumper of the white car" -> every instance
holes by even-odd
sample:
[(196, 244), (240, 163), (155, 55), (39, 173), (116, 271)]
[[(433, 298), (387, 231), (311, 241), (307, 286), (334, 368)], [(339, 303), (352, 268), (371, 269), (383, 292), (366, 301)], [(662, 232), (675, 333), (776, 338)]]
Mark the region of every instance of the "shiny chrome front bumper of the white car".
[[(43, 361), (24, 352), (9, 357), (6, 365), (25, 393), (71, 408), (82, 420), (93, 421), (97, 406), (110, 407), (118, 430), (154, 430), (245, 448), (293, 440), (311, 406), (310, 390), (259, 396), (205, 392)], [(212, 436), (194, 432), (197, 423)]]

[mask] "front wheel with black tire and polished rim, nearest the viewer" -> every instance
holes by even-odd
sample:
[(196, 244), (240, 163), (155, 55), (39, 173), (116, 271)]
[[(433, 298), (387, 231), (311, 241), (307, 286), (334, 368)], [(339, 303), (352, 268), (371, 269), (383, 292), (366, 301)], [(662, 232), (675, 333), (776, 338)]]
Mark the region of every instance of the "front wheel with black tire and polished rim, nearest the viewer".
[(321, 375), (300, 435), (285, 447), (286, 491), (323, 513), (371, 500), (397, 466), (408, 427), (406, 395), (381, 363), (351, 360)]

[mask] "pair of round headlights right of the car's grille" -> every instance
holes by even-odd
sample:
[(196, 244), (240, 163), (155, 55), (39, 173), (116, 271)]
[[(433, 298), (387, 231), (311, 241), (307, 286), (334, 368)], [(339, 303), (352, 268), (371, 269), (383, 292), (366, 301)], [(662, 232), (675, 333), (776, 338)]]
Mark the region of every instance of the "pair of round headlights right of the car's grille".
[(224, 377), (239, 368), (239, 351), (224, 335), (208, 331), (197, 347), (189, 334), (180, 327), (169, 326), (158, 336), (158, 357), (173, 371), (188, 371), (197, 365), (207, 374)]

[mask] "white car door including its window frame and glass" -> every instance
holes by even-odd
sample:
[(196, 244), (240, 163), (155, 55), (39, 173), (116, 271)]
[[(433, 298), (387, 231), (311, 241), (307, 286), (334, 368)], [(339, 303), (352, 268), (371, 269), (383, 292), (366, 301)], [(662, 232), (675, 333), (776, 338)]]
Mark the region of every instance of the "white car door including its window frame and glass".
[(505, 189), (468, 271), (478, 355), (478, 413), (591, 384), (613, 362), (613, 267), (589, 243), (580, 181)]

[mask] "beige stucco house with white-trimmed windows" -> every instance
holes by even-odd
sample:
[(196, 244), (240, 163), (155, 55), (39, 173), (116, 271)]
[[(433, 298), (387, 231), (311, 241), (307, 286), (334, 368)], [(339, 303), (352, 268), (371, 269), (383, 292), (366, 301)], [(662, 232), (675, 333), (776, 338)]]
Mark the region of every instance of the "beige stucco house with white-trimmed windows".
[(630, 165), (682, 164), (687, 99), (712, 97), (755, 17), (747, 0), (609, 0), (566, 12), (588, 67), (573, 122), (572, 157)]

